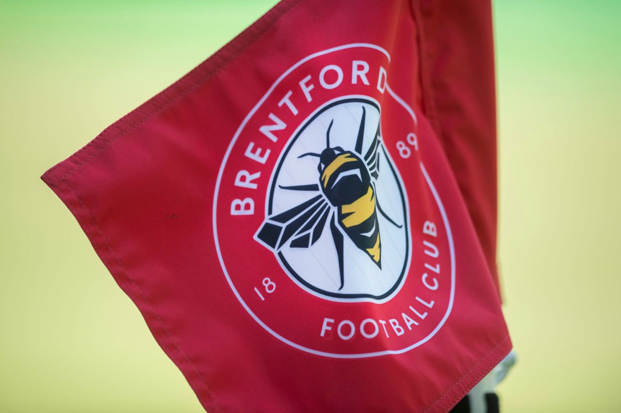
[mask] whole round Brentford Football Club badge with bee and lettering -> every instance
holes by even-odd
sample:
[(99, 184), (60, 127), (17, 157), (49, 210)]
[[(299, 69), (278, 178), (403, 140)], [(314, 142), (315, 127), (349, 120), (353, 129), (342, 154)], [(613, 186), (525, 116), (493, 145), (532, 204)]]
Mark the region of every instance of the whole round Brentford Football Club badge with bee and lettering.
[(248, 113), (220, 168), (224, 275), (260, 326), (306, 352), (406, 352), (450, 314), (450, 224), (389, 65), (363, 43), (297, 62)]

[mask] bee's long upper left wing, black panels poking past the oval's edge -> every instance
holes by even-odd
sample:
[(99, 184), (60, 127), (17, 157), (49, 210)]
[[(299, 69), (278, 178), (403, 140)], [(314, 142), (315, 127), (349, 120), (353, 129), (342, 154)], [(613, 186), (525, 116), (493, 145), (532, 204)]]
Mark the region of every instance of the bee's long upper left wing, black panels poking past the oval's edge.
[(304, 224), (309, 221), (317, 210), (325, 207), (327, 202), (321, 195), (317, 195), (306, 202), (289, 210), (268, 217), (256, 238), (274, 251), (278, 251)]

